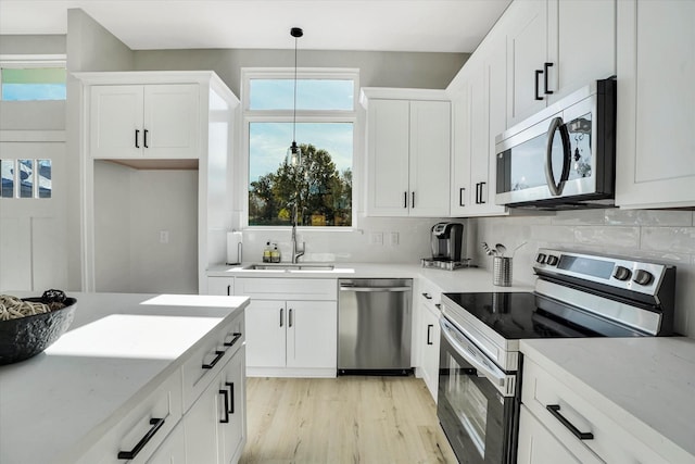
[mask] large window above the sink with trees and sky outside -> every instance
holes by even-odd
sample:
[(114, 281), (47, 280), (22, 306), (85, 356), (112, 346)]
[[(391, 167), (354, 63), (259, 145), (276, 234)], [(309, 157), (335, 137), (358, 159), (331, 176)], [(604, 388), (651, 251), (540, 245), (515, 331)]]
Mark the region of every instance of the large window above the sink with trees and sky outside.
[[(300, 71), (293, 134), (293, 70), (244, 71), (248, 225), (352, 226), (357, 72)], [(286, 163), (295, 139), (299, 171)]]

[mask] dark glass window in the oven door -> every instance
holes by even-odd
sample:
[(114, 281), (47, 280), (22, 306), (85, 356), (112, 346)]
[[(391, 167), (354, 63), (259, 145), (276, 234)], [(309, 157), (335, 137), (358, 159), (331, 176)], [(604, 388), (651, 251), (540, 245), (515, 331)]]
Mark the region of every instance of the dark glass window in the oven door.
[(477, 378), (475, 368), (460, 366), (452, 356), (448, 356), (448, 361), (450, 375), (445, 394), (473, 446), (484, 456), (488, 399), (472, 380)]

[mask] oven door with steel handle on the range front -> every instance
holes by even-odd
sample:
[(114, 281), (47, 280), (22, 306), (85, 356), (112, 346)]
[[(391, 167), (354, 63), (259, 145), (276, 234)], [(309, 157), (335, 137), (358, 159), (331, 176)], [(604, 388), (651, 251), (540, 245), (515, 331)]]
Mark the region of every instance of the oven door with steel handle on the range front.
[(440, 319), (437, 415), (462, 463), (513, 463), (516, 375), (501, 371), (448, 319)]

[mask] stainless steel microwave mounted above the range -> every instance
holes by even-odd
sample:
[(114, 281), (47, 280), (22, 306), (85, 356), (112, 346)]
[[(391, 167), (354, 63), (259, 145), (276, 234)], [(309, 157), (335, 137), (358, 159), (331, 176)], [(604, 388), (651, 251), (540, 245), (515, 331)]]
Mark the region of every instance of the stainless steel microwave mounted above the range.
[(616, 79), (567, 96), (495, 139), (495, 203), (547, 210), (615, 201)]

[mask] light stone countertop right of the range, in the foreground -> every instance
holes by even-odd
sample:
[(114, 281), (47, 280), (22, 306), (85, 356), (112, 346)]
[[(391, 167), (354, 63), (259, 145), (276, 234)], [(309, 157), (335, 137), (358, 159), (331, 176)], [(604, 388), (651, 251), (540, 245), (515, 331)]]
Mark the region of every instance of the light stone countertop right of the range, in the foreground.
[(666, 461), (695, 463), (695, 339), (538, 339), (520, 349)]

